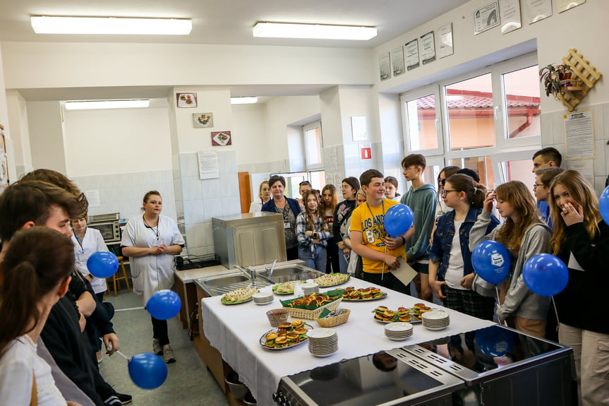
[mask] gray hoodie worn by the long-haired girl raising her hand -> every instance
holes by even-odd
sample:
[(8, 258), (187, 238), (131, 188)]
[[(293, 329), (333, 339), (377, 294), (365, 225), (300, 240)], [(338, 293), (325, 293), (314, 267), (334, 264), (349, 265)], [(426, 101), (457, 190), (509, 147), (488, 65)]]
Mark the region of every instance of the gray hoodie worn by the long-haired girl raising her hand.
[[(483, 211), (469, 232), (469, 249), (474, 251), (480, 241), (495, 239), (495, 235), (502, 227), (496, 227), (492, 232), (486, 233), (490, 222), (490, 213)], [(550, 298), (539, 296), (529, 290), (522, 278), (522, 267), (531, 256), (538, 253), (547, 253), (552, 231), (543, 222), (530, 225), (524, 231), (524, 237), (518, 251), (518, 258), (512, 263), (512, 280), (505, 301), (497, 309), (497, 316), (505, 320), (508, 316), (529, 318), (530, 320), (545, 320), (550, 307)]]

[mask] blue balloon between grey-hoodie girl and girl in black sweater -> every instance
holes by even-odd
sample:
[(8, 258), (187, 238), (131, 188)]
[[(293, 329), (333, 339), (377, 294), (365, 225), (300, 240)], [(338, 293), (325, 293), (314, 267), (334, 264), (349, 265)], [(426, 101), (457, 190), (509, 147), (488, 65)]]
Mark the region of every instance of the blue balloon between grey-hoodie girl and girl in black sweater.
[(560, 258), (549, 253), (531, 256), (522, 267), (524, 285), (540, 296), (554, 296), (569, 282), (569, 270)]

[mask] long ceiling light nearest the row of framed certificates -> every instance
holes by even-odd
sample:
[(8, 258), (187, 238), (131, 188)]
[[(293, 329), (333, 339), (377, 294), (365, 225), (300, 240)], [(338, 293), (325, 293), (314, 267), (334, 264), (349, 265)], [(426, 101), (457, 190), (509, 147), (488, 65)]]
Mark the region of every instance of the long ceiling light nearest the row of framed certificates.
[(366, 41), (376, 37), (375, 27), (351, 25), (258, 23), (252, 30), (254, 37), (313, 38), (318, 40)]

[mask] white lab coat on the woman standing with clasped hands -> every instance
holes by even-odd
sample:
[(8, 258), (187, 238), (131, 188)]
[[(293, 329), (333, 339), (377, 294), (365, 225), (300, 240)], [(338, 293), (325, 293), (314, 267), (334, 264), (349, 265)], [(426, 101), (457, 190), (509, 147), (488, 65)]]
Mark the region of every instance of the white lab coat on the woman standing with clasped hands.
[[(165, 244), (183, 245), (184, 239), (174, 220), (159, 215), (158, 237), (154, 229), (144, 224), (143, 216), (132, 217), (123, 231), (121, 246), (151, 248)], [(176, 257), (167, 253), (129, 257), (133, 292), (143, 294), (144, 306), (152, 294), (162, 289), (171, 289), (174, 285), (174, 270)]]

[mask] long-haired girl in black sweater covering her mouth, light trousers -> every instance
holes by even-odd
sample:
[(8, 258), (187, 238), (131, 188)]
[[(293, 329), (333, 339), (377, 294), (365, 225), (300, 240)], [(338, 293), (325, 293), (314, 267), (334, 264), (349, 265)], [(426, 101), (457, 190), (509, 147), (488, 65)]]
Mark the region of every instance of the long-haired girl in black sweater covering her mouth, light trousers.
[(554, 297), (559, 342), (573, 348), (581, 382), (579, 404), (607, 405), (609, 227), (592, 185), (577, 171), (567, 170), (554, 178), (548, 204), (554, 222), (550, 250), (569, 269), (567, 287)]

